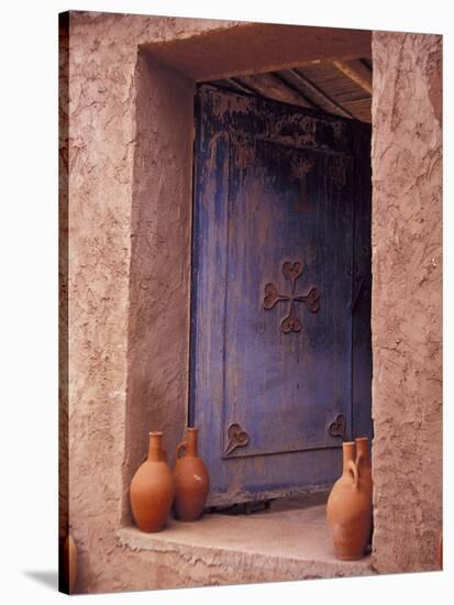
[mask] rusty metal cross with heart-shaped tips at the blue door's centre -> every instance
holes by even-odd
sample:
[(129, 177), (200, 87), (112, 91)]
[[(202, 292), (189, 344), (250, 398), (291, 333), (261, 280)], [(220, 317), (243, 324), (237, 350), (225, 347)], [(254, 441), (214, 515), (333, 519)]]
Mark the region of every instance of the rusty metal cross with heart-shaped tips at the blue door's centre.
[(285, 334), (288, 334), (289, 332), (300, 332), (301, 322), (295, 315), (295, 302), (297, 300), (299, 302), (306, 302), (306, 305), (308, 306), (308, 309), (312, 314), (315, 314), (320, 308), (320, 305), (319, 305), (320, 294), (314, 286), (312, 286), (307, 294), (295, 294), (297, 279), (302, 274), (302, 263), (300, 263), (299, 261), (295, 263), (289, 263), (289, 262), (284, 263), (283, 273), (284, 273), (284, 277), (286, 279), (290, 279), (291, 282), (291, 293), (289, 295), (279, 294), (278, 289), (274, 284), (266, 284), (263, 306), (264, 306), (264, 309), (269, 310), (269, 309), (273, 309), (276, 302), (279, 302), (280, 300), (289, 300), (290, 301), (289, 312), (288, 312), (288, 316), (285, 317), (280, 322), (280, 329)]

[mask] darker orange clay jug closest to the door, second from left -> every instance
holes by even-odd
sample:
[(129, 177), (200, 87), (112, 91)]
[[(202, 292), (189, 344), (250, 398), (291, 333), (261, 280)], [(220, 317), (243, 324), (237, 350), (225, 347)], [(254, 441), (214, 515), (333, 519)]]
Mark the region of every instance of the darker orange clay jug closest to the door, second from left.
[(174, 470), (175, 514), (181, 521), (200, 518), (210, 484), (207, 466), (198, 455), (197, 439), (198, 430), (188, 428), (186, 440), (177, 447)]

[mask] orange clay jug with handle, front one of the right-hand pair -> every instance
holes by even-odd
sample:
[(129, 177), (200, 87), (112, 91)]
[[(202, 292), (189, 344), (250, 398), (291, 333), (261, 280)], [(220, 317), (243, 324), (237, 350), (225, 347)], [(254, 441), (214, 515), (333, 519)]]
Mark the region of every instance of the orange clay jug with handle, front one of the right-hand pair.
[(343, 443), (342, 476), (334, 483), (326, 504), (335, 554), (342, 561), (364, 557), (370, 535), (370, 492), (359, 476), (354, 457), (355, 443)]

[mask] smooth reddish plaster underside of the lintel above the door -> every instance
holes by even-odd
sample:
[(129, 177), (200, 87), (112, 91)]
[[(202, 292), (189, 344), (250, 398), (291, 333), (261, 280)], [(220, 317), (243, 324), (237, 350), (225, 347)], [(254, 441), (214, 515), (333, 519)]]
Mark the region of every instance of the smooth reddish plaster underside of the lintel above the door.
[(370, 31), (241, 23), (142, 50), (192, 80), (206, 81), (370, 57)]

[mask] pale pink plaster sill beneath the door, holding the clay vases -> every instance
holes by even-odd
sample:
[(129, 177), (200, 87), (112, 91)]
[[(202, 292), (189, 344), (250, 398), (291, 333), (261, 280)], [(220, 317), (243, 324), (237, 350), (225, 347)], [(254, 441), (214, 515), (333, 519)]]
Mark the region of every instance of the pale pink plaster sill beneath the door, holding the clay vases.
[(374, 574), (370, 557), (335, 558), (325, 501), (326, 494), (312, 494), (275, 502), (270, 509), (247, 516), (209, 514), (192, 524), (171, 518), (158, 534), (124, 527), (118, 539), (145, 557), (162, 553), (214, 569), (215, 581), (208, 573), (204, 585)]

